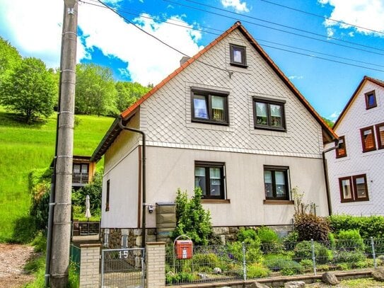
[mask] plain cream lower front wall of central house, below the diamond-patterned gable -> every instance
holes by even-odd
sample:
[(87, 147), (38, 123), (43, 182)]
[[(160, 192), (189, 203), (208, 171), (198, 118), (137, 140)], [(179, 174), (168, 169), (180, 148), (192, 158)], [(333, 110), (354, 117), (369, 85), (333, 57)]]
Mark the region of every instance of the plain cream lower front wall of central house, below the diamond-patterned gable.
[[(146, 200), (150, 204), (174, 201), (178, 188), (192, 196), (194, 161), (218, 161), (225, 163), (226, 199), (230, 203), (204, 203), (214, 226), (291, 224), (293, 205), (264, 204), (264, 165), (288, 166), (291, 188), (298, 186), (305, 192), (303, 201), (314, 202), (317, 214), (327, 215), (321, 159), (153, 146), (147, 152)], [(155, 215), (147, 214), (149, 227), (155, 226)]]

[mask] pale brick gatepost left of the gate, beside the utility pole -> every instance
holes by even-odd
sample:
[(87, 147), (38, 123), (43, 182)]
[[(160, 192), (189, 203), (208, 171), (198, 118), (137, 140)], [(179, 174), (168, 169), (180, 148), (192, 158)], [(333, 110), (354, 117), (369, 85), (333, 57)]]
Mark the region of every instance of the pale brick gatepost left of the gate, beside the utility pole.
[(99, 287), (100, 244), (81, 244), (80, 288)]

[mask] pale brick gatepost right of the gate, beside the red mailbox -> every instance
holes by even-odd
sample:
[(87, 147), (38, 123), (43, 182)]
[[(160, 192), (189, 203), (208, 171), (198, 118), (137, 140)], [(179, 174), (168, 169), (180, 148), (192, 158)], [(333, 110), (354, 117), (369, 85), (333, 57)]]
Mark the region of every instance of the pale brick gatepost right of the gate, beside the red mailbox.
[(146, 287), (165, 288), (165, 242), (146, 243)]

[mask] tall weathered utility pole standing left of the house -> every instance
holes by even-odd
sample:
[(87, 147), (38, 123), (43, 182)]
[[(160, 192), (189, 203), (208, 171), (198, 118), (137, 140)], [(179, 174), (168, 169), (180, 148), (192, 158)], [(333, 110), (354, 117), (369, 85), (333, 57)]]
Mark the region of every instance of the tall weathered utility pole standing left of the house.
[[(74, 98), (76, 86), (77, 0), (64, 0), (61, 83), (57, 125), (56, 185), (50, 255), (53, 288), (68, 283), (71, 241), (71, 190), (74, 150)], [(48, 227), (51, 229), (51, 227)]]

